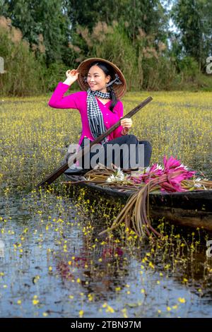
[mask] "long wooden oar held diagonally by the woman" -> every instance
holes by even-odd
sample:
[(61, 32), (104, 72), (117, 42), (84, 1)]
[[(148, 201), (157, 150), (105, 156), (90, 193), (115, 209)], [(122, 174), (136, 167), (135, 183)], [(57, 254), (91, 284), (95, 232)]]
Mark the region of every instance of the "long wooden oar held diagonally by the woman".
[[(134, 114), (139, 112), (139, 110), (141, 108), (143, 108), (144, 106), (146, 106), (148, 104), (148, 102), (151, 102), (151, 100), (153, 100), (152, 97), (146, 98), (146, 100), (143, 100), (143, 102), (141, 102), (141, 104), (139, 104), (134, 109), (132, 109), (128, 114), (124, 115), (124, 117), (122, 117), (122, 119), (133, 117)], [(54, 182), (54, 180), (56, 180), (62, 173), (64, 173), (66, 170), (68, 170), (68, 168), (71, 167), (71, 165), (73, 165), (73, 163), (76, 162), (76, 160), (83, 157), (83, 155), (86, 155), (86, 153), (89, 152), (90, 148), (94, 144), (100, 143), (100, 141), (102, 141), (102, 139), (104, 139), (110, 133), (112, 133), (112, 131), (117, 129), (118, 126), (120, 126), (120, 122), (121, 122), (121, 119), (119, 121), (117, 121), (107, 131), (105, 131), (105, 133), (98, 136), (98, 138), (96, 138), (95, 141), (92, 141), (90, 144), (88, 144), (88, 146), (85, 146), (85, 148), (81, 149), (76, 155), (73, 155), (71, 158), (69, 158), (69, 163), (66, 162), (64, 165), (61, 165), (61, 167), (57, 168), (57, 170), (55, 170), (52, 174), (50, 174), (48, 177), (46, 177), (44, 180), (42, 180), (42, 182), (37, 184), (36, 188), (39, 188), (40, 186), (45, 186), (45, 184), (51, 184), (52, 182)]]

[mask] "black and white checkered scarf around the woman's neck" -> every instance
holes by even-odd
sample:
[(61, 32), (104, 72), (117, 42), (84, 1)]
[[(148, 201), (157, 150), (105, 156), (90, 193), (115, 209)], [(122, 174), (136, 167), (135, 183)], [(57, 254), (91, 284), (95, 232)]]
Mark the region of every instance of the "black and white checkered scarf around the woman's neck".
[[(92, 91), (90, 88), (87, 90), (87, 114), (88, 123), (90, 126), (91, 134), (93, 138), (96, 139), (98, 136), (102, 135), (107, 129), (105, 128), (102, 112), (98, 105), (95, 96), (102, 99), (110, 99), (110, 93), (101, 93), (100, 91)], [(108, 138), (105, 137), (101, 143), (104, 145), (107, 143)]]

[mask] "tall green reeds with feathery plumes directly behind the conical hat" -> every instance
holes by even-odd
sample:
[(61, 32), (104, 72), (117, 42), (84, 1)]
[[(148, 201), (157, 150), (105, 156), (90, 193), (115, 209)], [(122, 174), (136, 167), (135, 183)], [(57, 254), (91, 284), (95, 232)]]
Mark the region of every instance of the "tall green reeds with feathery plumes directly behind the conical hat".
[(80, 61), (86, 57), (100, 57), (113, 61), (123, 71), (129, 90), (142, 88), (159, 90), (170, 88), (175, 67), (167, 61), (163, 42), (156, 43), (152, 35), (139, 29), (134, 43), (126, 34), (126, 26), (114, 21), (113, 25), (98, 22), (88, 33), (87, 28), (78, 26), (78, 40), (86, 43), (89, 52), (81, 49)]

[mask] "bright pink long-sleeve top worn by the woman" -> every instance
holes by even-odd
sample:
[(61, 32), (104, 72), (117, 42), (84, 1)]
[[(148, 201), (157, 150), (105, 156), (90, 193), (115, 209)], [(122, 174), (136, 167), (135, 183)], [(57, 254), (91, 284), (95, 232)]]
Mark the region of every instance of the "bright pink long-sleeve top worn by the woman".
[[(82, 121), (82, 134), (81, 138), (79, 139), (78, 144), (80, 145), (83, 141), (84, 137), (93, 141), (94, 138), (90, 133), (90, 126), (88, 123), (88, 116), (87, 116), (87, 92), (86, 91), (79, 91), (77, 93), (72, 93), (71, 95), (67, 95), (64, 97), (64, 94), (69, 89), (70, 85), (64, 84), (59, 82), (57, 88), (54, 90), (52, 97), (49, 100), (48, 105), (54, 108), (72, 108), (78, 109), (81, 114), (81, 121)], [(105, 122), (105, 128), (109, 129), (113, 124), (119, 121), (120, 117), (123, 117), (123, 104), (120, 100), (118, 100), (117, 105), (115, 105), (113, 112), (110, 111), (109, 107), (111, 104), (111, 100), (107, 102), (107, 104), (102, 104), (100, 100), (96, 97), (98, 101), (98, 105), (103, 115), (103, 120)], [(119, 126), (115, 129), (108, 137), (108, 141), (111, 141), (114, 138), (122, 136), (122, 126)]]

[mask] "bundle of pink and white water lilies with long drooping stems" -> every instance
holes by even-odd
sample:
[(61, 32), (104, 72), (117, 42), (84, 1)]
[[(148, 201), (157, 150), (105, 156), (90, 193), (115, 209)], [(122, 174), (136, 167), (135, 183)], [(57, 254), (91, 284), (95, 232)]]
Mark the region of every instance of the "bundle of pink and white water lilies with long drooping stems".
[[(114, 223), (108, 230), (114, 230), (121, 223), (126, 228), (134, 230), (136, 235), (155, 235), (161, 237), (151, 225), (149, 217), (148, 197), (152, 191), (164, 193), (199, 191), (212, 189), (212, 181), (196, 177), (196, 172), (189, 170), (176, 158), (163, 158), (163, 167), (154, 164), (136, 172), (122, 171), (119, 167), (97, 168), (90, 170), (84, 177), (86, 183), (98, 184), (98, 186), (110, 186), (113, 189), (132, 191), (126, 205), (117, 215)], [(133, 192), (134, 191), (134, 192)]]

